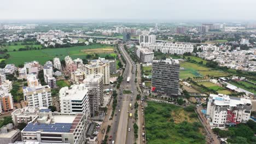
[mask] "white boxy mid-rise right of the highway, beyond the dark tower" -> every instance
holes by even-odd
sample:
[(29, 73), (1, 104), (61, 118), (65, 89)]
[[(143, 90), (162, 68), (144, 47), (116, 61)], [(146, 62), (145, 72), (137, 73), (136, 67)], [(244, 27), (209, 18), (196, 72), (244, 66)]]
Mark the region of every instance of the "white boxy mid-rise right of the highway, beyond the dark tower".
[(150, 63), (154, 59), (154, 52), (141, 46), (135, 47), (136, 56), (141, 60), (142, 63)]

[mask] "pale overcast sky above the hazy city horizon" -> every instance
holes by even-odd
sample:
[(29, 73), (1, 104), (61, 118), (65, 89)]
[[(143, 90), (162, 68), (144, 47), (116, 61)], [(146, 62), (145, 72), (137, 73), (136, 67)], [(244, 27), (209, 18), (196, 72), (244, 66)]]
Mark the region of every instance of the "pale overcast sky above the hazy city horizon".
[(0, 0), (0, 20), (256, 21), (256, 0)]

